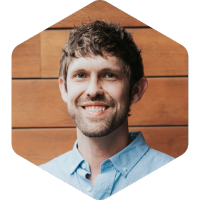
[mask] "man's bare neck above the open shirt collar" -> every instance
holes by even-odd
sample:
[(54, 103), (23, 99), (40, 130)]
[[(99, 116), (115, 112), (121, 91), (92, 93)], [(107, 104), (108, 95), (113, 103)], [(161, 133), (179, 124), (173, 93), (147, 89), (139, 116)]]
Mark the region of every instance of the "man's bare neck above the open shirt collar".
[(128, 120), (104, 137), (87, 137), (77, 128), (78, 151), (88, 162), (91, 173), (100, 174), (101, 163), (127, 147), (133, 139), (128, 132)]

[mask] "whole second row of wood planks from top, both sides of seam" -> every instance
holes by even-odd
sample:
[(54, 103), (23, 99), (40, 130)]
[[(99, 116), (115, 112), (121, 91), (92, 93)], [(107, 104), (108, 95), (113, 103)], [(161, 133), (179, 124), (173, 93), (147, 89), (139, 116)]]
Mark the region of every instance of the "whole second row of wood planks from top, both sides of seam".
[[(127, 30), (142, 48), (146, 76), (188, 75), (188, 52), (181, 44), (154, 29)], [(57, 78), (61, 48), (69, 33), (69, 30), (45, 30), (18, 45), (12, 53), (12, 78)]]

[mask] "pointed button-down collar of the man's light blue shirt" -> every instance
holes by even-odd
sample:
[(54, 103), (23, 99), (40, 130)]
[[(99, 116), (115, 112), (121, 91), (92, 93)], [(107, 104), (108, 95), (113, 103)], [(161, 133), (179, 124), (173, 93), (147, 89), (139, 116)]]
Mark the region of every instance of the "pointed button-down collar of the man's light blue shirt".
[[(133, 141), (127, 147), (114, 156), (106, 159), (101, 164), (101, 166), (103, 166), (108, 162), (108, 160), (111, 161), (114, 167), (117, 168), (125, 177), (149, 149), (141, 131), (131, 131), (129, 134)], [(70, 174), (72, 174), (77, 167), (85, 161), (77, 149), (77, 144), (78, 140), (74, 143), (68, 162), (66, 160), (66, 164), (68, 164), (67, 171), (69, 171)]]

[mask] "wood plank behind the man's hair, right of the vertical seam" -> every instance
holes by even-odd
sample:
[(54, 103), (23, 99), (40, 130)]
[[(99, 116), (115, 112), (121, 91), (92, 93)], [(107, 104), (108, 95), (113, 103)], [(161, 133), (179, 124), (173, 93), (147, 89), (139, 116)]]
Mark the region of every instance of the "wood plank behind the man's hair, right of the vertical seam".
[[(187, 76), (188, 52), (184, 46), (154, 29), (127, 29), (142, 48), (146, 76)], [(61, 47), (68, 39), (69, 30), (41, 32), (41, 77), (57, 78)]]

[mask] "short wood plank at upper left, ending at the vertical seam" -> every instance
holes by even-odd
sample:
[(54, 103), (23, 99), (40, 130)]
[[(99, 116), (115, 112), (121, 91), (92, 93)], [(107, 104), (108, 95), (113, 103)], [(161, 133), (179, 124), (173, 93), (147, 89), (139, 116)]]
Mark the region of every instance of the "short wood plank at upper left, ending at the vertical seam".
[(40, 78), (40, 33), (13, 49), (11, 76), (12, 78)]

